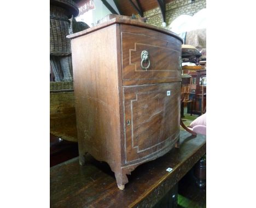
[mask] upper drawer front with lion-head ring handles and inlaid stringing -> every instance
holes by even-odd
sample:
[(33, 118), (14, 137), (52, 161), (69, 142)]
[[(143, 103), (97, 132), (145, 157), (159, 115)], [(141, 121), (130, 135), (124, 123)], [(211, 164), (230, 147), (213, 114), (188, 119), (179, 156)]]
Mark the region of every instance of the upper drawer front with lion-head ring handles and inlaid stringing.
[(176, 38), (122, 25), (121, 50), (123, 85), (181, 81), (181, 41)]

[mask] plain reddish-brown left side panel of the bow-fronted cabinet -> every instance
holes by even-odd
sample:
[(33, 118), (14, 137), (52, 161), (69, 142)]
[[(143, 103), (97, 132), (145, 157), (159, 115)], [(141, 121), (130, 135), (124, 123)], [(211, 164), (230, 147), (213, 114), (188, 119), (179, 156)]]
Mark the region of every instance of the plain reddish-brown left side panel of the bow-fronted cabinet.
[(115, 24), (72, 39), (79, 151), (120, 164), (120, 112)]

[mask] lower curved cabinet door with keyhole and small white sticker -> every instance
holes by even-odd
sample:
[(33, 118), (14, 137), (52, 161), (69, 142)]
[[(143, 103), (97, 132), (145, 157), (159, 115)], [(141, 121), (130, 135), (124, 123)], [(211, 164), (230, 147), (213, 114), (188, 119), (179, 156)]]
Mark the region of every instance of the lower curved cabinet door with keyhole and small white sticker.
[(123, 87), (123, 93), (125, 163), (172, 145), (179, 135), (181, 83)]

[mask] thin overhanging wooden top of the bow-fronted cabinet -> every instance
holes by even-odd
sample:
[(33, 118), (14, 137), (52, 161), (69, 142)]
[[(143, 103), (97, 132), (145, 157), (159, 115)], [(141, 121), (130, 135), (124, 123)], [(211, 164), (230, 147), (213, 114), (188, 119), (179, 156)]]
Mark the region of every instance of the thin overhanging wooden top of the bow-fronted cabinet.
[(161, 32), (161, 33), (165, 33), (167, 35), (173, 36), (174, 38), (177, 38), (183, 44), (182, 38), (179, 37), (176, 33), (171, 32), (170, 30), (167, 30), (167, 29), (164, 29), (164, 28), (161, 28), (161, 27), (158, 27), (158, 26), (150, 25), (148, 23), (140, 22), (140, 21), (137, 21), (137, 20), (124, 19), (121, 15), (120, 16), (117, 15), (115, 18), (110, 19), (107, 22), (103, 22), (103, 23), (101, 23), (101, 24), (99, 24), (95, 27), (91, 27), (91, 28), (85, 29), (83, 31), (80, 31), (78, 33), (67, 35), (67, 38), (70, 38), (70, 39), (77, 38), (79, 36), (94, 32), (95, 30), (102, 29), (104, 27), (107, 27), (109, 25), (113, 25), (115, 23), (120, 23), (120, 24), (125, 24), (125, 25), (132, 25), (132, 26), (137, 26), (137, 27), (144, 27), (144, 28), (148, 28), (148, 29), (152, 29), (152, 30)]

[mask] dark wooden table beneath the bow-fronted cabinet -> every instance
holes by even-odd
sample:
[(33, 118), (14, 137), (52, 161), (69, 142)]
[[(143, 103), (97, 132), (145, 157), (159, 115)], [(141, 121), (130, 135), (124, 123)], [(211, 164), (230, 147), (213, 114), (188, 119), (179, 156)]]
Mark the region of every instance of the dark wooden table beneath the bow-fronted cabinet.
[(138, 166), (123, 191), (107, 163), (88, 156), (85, 166), (80, 166), (76, 157), (50, 168), (50, 206), (152, 207), (205, 153), (206, 136), (181, 131), (180, 148)]

